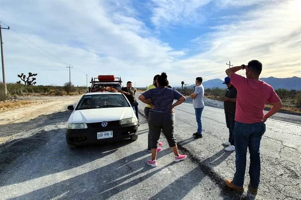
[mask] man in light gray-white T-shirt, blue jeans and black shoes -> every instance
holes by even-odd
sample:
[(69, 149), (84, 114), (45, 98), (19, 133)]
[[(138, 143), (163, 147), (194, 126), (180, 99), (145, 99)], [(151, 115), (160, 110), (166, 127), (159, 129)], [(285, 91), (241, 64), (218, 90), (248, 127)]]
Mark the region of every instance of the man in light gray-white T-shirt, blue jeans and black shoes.
[(196, 133), (193, 133), (195, 135), (194, 139), (203, 138), (202, 132), (202, 112), (204, 109), (204, 87), (202, 85), (203, 78), (197, 77), (195, 80), (195, 89), (194, 93), (190, 95), (192, 98), (193, 108), (195, 110), (195, 118), (198, 123), (198, 131)]

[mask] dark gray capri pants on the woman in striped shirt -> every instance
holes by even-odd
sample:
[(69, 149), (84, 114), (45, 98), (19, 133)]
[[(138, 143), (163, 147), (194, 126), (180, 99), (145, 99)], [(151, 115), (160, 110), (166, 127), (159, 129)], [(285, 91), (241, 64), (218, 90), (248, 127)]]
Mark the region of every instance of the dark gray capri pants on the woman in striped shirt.
[(150, 111), (148, 115), (148, 126), (150, 128), (150, 147), (158, 147), (161, 129), (168, 142), (169, 147), (174, 147), (177, 140), (174, 136), (175, 114), (174, 113), (157, 113)]

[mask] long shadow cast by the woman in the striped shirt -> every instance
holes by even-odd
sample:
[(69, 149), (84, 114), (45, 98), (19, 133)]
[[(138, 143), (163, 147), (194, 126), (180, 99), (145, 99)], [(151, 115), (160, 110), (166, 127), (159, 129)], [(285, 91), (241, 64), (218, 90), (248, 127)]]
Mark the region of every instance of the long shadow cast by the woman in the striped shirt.
[[(165, 149), (160, 152), (160, 156), (163, 157), (169, 153), (169, 149)], [(145, 155), (146, 152), (143, 150), (87, 173), (10, 199), (51, 199), (58, 196), (61, 199), (107, 199), (150, 178), (174, 163), (138, 176), (152, 169), (146, 165), (146, 159), (141, 158)], [(127, 180), (130, 181), (125, 183)]]

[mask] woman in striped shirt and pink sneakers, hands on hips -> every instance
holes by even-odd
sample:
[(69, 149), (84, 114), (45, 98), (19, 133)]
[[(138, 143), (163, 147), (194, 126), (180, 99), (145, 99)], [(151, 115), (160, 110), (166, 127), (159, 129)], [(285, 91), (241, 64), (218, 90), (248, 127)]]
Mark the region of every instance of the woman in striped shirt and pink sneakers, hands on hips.
[[(153, 88), (141, 94), (139, 100), (149, 104), (152, 108), (148, 116), (148, 124), (150, 128), (150, 146), (151, 160), (147, 164), (152, 167), (157, 166), (157, 148), (161, 130), (163, 131), (169, 147), (175, 154), (174, 161), (179, 162), (187, 158), (178, 152), (177, 141), (174, 136), (175, 114), (173, 108), (183, 103), (186, 98), (177, 90), (167, 88), (168, 80), (166, 73), (162, 73), (156, 80), (158, 88)], [(174, 99), (177, 102), (173, 103)]]

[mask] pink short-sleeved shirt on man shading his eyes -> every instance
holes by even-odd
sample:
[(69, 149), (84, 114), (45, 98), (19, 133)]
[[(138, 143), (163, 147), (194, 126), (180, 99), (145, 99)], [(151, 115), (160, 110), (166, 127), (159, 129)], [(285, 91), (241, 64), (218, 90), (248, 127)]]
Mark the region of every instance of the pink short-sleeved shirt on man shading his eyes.
[(240, 123), (263, 122), (263, 109), (267, 103), (276, 103), (280, 98), (272, 86), (233, 73), (231, 84), (237, 90), (235, 121)]

